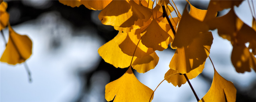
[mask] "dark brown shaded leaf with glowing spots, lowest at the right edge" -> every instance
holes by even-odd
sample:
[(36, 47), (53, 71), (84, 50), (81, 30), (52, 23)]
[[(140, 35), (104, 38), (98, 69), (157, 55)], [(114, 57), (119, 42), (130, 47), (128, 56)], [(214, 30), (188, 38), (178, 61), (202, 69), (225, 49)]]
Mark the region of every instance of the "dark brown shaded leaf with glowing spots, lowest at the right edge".
[(244, 73), (244, 71), (250, 72), (251, 68), (256, 72), (256, 58), (244, 44), (233, 45), (231, 62), (239, 73)]

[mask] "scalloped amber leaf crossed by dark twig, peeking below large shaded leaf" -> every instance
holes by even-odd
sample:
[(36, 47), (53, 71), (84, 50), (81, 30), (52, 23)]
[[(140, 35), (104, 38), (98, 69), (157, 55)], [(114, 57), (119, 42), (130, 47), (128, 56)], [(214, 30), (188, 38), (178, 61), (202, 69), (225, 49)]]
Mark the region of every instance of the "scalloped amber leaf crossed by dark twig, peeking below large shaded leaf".
[[(205, 62), (204, 62), (205, 63)], [(200, 73), (202, 73), (203, 69), (204, 69), (204, 63), (202, 65), (199, 65), (198, 68), (196, 69), (193, 69), (191, 70), (189, 73), (186, 73), (188, 79), (193, 79), (195, 77), (197, 77)], [(175, 73), (178, 73), (177, 70), (173, 70), (173, 69), (169, 69), (165, 75), (164, 75), (164, 78), (172, 75), (172, 74), (175, 74)], [(185, 84), (187, 82), (186, 78), (184, 77), (184, 75), (179, 75), (179, 74), (176, 74), (172, 77), (169, 77), (167, 79), (165, 79), (168, 83), (172, 83), (174, 86), (181, 86), (182, 84)]]

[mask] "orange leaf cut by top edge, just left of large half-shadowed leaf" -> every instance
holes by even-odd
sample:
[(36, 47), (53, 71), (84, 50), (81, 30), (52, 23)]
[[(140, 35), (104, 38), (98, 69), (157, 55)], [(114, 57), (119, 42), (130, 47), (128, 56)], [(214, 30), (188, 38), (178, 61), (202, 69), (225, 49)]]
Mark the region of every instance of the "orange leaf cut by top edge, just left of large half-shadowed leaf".
[(90, 5), (95, 10), (104, 9), (112, 0), (88, 0), (88, 5)]

